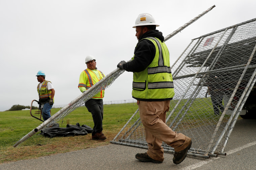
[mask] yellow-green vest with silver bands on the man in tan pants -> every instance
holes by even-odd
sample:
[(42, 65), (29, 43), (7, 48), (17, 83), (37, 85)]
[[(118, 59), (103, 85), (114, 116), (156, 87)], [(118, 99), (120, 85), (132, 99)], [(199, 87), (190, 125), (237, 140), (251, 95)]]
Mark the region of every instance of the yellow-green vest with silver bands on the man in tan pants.
[(132, 97), (141, 101), (171, 100), (174, 90), (169, 51), (165, 43), (158, 38), (148, 37), (145, 39), (154, 43), (156, 54), (145, 70), (133, 73)]

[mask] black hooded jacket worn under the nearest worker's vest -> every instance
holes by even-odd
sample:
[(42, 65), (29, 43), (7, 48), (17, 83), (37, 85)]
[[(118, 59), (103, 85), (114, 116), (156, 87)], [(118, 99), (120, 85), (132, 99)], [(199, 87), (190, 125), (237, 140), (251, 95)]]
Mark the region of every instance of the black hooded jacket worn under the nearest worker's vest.
[[(147, 37), (155, 37), (160, 39), (161, 41), (164, 41), (162, 32), (159, 32), (158, 30), (151, 30), (147, 33), (142, 34), (139, 41)], [(130, 62), (123, 64), (123, 68), (126, 71), (132, 72), (143, 71), (150, 65), (155, 55), (155, 45), (150, 40), (142, 40), (135, 47), (134, 59)]]

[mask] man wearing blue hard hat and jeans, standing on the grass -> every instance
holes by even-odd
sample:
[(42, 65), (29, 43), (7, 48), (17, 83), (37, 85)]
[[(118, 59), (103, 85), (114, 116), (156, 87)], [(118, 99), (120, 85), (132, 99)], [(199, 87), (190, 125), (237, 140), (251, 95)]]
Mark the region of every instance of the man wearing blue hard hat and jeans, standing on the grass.
[(39, 107), (42, 108), (43, 120), (47, 120), (51, 117), (51, 109), (54, 103), (55, 90), (51, 81), (45, 80), (44, 71), (38, 71), (37, 81), (40, 82), (37, 85), (37, 92), (39, 96)]

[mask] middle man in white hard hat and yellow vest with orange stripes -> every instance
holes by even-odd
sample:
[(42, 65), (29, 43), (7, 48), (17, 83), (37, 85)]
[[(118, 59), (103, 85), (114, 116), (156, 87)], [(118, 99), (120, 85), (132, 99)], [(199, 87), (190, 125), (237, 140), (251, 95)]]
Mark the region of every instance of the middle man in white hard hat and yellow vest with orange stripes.
[[(105, 75), (96, 68), (96, 59), (92, 55), (85, 58), (87, 69), (81, 72), (79, 77), (79, 90), (84, 93), (95, 83), (101, 80)], [(105, 89), (93, 96), (85, 102), (85, 106), (92, 114), (94, 127), (92, 131), (93, 140), (105, 140), (106, 136), (102, 133), (102, 120), (103, 120), (103, 97)]]

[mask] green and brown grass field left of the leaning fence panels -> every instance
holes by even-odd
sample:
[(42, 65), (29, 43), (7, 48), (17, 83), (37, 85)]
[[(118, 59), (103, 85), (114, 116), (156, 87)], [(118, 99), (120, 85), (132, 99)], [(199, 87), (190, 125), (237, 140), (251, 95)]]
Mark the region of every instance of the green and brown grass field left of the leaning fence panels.
[[(0, 164), (108, 145), (137, 108), (136, 103), (104, 105), (103, 133), (107, 139), (103, 141), (92, 140), (91, 133), (73, 137), (48, 138), (37, 132), (15, 148), (13, 145), (17, 141), (42, 122), (33, 118), (29, 110), (0, 112)], [(54, 114), (59, 110), (60, 108), (53, 108), (51, 111)], [(32, 110), (32, 113), (35, 111)], [(92, 128), (94, 126), (92, 115), (84, 106), (64, 117), (63, 122), (58, 122), (60, 127), (66, 127), (67, 120), (73, 125), (79, 123)]]

